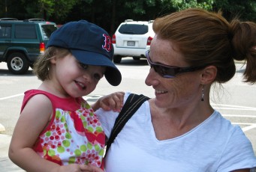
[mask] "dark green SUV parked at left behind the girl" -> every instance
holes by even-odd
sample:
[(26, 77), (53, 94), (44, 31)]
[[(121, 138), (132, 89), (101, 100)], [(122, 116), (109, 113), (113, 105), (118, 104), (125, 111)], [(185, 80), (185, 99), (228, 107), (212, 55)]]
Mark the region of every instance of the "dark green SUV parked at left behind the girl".
[(0, 19), (0, 62), (6, 62), (11, 73), (26, 73), (56, 29), (56, 23), (44, 19)]

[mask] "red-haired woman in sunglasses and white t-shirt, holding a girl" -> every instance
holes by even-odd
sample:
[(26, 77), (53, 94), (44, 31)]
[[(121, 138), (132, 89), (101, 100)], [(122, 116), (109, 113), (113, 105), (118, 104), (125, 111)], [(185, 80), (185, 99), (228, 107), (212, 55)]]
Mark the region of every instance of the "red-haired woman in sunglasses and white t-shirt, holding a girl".
[[(227, 22), (221, 13), (187, 9), (155, 19), (146, 58), (146, 85), (155, 98), (144, 102), (106, 156), (107, 172), (250, 171), (251, 143), (239, 126), (212, 108), (209, 91), (246, 60), (245, 82), (256, 82), (256, 25)], [(128, 93), (125, 94), (127, 99)], [(110, 135), (118, 113), (96, 112)]]

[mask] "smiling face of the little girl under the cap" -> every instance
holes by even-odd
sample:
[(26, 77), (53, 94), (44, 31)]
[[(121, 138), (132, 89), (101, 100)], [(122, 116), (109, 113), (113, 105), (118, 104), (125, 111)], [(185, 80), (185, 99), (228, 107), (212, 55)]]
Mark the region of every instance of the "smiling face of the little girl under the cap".
[(63, 96), (79, 97), (92, 93), (106, 70), (106, 67), (81, 64), (71, 53), (64, 58), (53, 58), (51, 62), (55, 88)]

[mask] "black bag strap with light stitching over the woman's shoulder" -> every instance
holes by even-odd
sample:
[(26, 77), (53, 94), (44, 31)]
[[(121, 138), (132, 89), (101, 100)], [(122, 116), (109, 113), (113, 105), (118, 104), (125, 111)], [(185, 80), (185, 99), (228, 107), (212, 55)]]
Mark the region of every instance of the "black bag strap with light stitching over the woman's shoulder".
[(107, 151), (110, 149), (110, 145), (113, 143), (116, 136), (119, 134), (119, 132), (121, 132), (122, 128), (125, 126), (125, 123), (127, 123), (127, 121), (135, 113), (135, 111), (137, 111), (137, 109), (140, 108), (140, 105), (142, 105), (143, 102), (145, 102), (148, 99), (149, 97), (144, 96), (143, 94), (137, 95), (131, 93), (128, 96), (125, 105), (122, 107), (122, 110), (119, 113), (119, 116), (116, 117), (115, 124), (110, 133), (110, 138), (107, 141), (107, 150), (105, 156), (107, 155)]

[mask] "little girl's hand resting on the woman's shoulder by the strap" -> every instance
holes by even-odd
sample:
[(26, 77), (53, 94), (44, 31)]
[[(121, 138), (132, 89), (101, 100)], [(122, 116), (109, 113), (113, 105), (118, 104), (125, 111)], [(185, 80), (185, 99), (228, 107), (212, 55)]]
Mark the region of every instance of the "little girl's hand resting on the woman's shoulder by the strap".
[(92, 105), (92, 109), (96, 111), (98, 108), (103, 108), (104, 111), (121, 111), (124, 103), (125, 93), (122, 91), (111, 93), (107, 96), (102, 96)]

